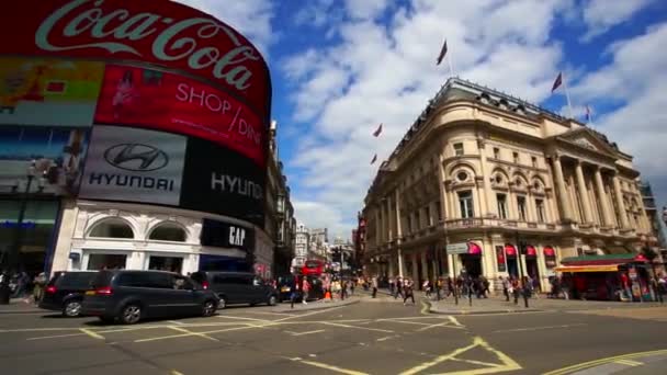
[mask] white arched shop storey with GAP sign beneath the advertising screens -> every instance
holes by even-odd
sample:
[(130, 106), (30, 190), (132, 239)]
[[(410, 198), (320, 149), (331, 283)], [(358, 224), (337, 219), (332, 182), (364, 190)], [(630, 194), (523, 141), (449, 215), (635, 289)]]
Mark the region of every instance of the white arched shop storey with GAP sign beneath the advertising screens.
[(238, 271), (272, 277), (273, 243), (261, 229), (201, 215), (134, 204), (65, 202), (52, 269)]

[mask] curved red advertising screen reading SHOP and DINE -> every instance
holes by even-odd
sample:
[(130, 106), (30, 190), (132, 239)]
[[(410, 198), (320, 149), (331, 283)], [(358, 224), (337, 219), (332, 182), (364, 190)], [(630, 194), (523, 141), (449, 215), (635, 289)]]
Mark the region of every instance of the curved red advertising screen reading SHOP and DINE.
[(221, 90), (172, 73), (108, 65), (94, 121), (200, 137), (265, 162), (259, 116)]

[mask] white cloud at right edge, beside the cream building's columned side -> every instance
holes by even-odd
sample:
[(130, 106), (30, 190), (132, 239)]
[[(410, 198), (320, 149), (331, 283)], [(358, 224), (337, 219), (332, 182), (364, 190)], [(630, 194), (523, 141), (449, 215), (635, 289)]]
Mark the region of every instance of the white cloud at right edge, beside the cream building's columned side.
[(654, 193), (667, 197), (667, 58), (656, 53), (667, 45), (667, 23), (643, 35), (613, 44), (612, 61), (584, 77), (573, 88), (578, 102), (614, 100), (618, 109), (596, 118), (596, 128), (635, 157)]

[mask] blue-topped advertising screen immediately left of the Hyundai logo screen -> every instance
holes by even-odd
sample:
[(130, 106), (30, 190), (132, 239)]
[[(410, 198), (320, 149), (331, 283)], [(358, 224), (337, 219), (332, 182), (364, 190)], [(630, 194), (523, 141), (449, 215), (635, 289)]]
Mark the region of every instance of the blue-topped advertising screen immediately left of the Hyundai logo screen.
[[(0, 126), (0, 191), (18, 188), (29, 168), (39, 178), (32, 190), (76, 194), (88, 148), (88, 128)], [(34, 166), (33, 166), (34, 161)], [(43, 178), (43, 179), (42, 179)]]

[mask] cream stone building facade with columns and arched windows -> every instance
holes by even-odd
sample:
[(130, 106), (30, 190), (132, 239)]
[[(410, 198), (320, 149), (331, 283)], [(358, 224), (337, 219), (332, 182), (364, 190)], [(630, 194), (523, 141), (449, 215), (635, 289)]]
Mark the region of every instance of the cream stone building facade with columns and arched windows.
[(584, 124), (450, 79), (368, 191), (366, 273), (529, 274), (545, 288), (562, 258), (657, 245), (638, 175)]

